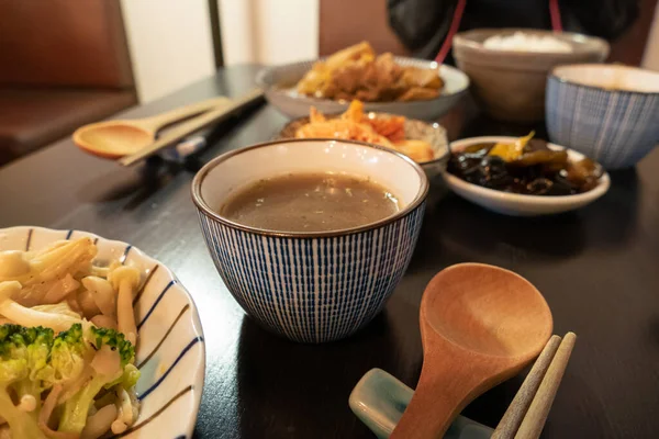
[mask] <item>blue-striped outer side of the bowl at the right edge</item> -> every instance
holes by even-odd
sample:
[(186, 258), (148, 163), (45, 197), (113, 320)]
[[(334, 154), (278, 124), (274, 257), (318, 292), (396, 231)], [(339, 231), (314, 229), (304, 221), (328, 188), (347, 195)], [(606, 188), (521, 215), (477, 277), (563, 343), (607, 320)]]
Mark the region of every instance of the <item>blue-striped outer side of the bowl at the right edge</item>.
[(546, 114), (552, 143), (608, 169), (634, 166), (659, 143), (659, 93), (603, 90), (550, 76)]

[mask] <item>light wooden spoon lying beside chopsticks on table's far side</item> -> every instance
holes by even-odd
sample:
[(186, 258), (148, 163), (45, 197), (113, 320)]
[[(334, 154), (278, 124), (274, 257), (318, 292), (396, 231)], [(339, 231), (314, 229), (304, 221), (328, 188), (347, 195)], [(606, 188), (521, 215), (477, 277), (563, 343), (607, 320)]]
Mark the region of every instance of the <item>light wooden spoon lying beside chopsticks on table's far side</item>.
[(115, 159), (153, 144), (164, 126), (228, 104), (228, 98), (219, 97), (152, 117), (93, 123), (76, 130), (74, 143), (96, 156)]

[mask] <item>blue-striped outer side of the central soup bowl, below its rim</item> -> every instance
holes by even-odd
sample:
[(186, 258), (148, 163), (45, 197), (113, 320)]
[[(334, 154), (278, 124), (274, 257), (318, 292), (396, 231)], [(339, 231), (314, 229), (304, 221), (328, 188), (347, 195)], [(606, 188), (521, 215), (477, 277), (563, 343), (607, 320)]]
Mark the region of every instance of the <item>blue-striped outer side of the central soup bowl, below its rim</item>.
[(425, 203), (380, 227), (327, 238), (265, 236), (199, 212), (211, 257), (238, 304), (275, 333), (337, 340), (370, 322), (405, 272)]

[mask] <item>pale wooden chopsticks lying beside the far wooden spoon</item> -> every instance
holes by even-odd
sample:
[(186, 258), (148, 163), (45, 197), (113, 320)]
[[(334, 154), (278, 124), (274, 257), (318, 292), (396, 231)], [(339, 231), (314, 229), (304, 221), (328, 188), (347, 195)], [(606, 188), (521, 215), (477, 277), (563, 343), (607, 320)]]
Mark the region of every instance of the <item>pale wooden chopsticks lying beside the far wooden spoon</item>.
[(163, 149), (199, 130), (205, 128), (206, 126), (230, 116), (231, 114), (241, 110), (243, 106), (246, 106), (255, 101), (263, 99), (263, 90), (252, 90), (247, 94), (231, 101), (226, 106), (209, 111), (208, 113), (204, 113), (200, 116), (197, 116), (188, 122), (180, 124), (176, 128), (170, 130), (165, 136), (157, 139), (146, 148), (143, 148), (130, 156), (122, 157), (118, 161), (123, 166), (134, 165), (137, 161), (157, 153), (159, 149)]

